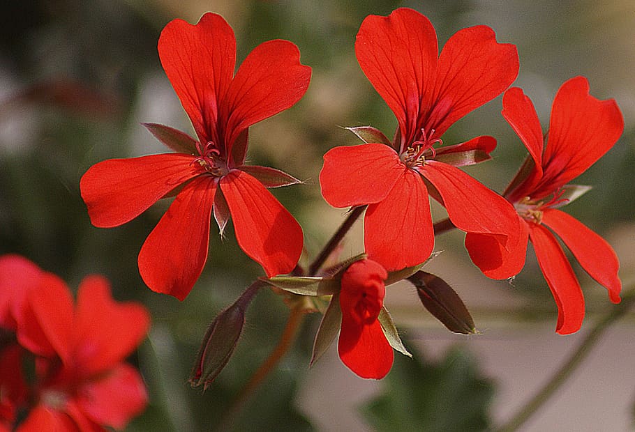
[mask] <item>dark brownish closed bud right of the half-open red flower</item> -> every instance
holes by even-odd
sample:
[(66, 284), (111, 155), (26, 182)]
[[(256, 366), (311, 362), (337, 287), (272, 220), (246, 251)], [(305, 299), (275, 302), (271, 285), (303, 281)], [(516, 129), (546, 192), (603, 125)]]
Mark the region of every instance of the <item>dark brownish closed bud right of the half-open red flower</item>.
[(443, 279), (419, 270), (408, 278), (424, 307), (448, 330), (461, 334), (477, 334), (474, 320), (463, 300)]

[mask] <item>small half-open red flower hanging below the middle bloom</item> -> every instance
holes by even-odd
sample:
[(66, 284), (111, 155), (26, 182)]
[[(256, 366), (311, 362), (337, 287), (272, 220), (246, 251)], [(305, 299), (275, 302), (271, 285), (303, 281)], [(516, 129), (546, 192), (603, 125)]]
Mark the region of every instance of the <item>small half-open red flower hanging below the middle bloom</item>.
[(338, 353), (342, 362), (361, 378), (384, 378), (393, 362), (393, 351), (378, 321), (387, 271), (375, 261), (355, 261), (342, 275), (340, 307), (342, 327)]

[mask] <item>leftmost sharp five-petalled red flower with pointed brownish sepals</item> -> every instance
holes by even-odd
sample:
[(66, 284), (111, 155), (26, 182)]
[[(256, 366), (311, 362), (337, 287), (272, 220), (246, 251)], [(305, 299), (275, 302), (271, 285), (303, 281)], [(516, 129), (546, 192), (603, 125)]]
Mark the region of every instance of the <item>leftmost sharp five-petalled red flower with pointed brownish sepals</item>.
[(147, 125), (179, 153), (106, 160), (80, 182), (95, 226), (112, 227), (140, 215), (158, 199), (176, 199), (145, 241), (139, 270), (146, 284), (183, 300), (207, 260), (211, 212), (221, 229), (230, 218), (238, 244), (271, 277), (293, 270), (303, 247), (296, 220), (267, 189), (298, 180), (276, 169), (244, 165), (250, 125), (294, 105), (311, 68), (295, 45), (271, 40), (256, 47), (236, 75), (236, 40), (219, 15), (197, 25), (165, 26), (158, 52), (198, 140)]

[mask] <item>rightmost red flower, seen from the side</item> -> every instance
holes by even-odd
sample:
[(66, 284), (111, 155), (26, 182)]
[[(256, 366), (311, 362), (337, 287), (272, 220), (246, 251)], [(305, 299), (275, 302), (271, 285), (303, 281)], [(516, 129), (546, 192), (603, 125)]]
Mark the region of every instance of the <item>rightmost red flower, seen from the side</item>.
[[(573, 333), (582, 325), (584, 298), (554, 233), (565, 242), (582, 268), (608, 290), (613, 303), (620, 302), (620, 263), (604, 239), (558, 207), (569, 202), (567, 196), (574, 198), (580, 188), (566, 184), (586, 171), (618, 141), (624, 130), (622, 113), (615, 100), (598, 100), (591, 96), (584, 77), (569, 79), (558, 90), (551, 107), (546, 139), (532, 101), (520, 88), (505, 92), (502, 103), (502, 115), (530, 154), (505, 192), (523, 223), (518, 242), (504, 254), (504, 259), (524, 263), (528, 240), (532, 242), (542, 273), (558, 304), (556, 331)], [(600, 137), (598, 131), (602, 132)], [(469, 241), (466, 239), (466, 244)], [(479, 246), (470, 253), (487, 275), (491, 265), (488, 261), (495, 252), (488, 250), (485, 242), (480, 242)]]

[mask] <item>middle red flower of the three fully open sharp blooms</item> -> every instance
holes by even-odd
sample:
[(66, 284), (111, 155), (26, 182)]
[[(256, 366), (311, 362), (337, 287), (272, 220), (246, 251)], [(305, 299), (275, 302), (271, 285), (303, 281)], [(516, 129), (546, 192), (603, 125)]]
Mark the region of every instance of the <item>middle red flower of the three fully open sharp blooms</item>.
[[(514, 209), (456, 168), (489, 158), (491, 137), (433, 148), (449, 126), (492, 100), (518, 75), (516, 47), (496, 43), (487, 26), (452, 36), (440, 56), (424, 15), (401, 8), (366, 17), (357, 33), (357, 60), (399, 123), (392, 146), (337, 147), (324, 155), (322, 195), (331, 206), (368, 204), (364, 244), (387, 270), (425, 261), (434, 246), (428, 193), (459, 229), (494, 233), (505, 243), (517, 231)], [(388, 145), (384, 145), (388, 144)], [(511, 275), (509, 275), (511, 276)]]

